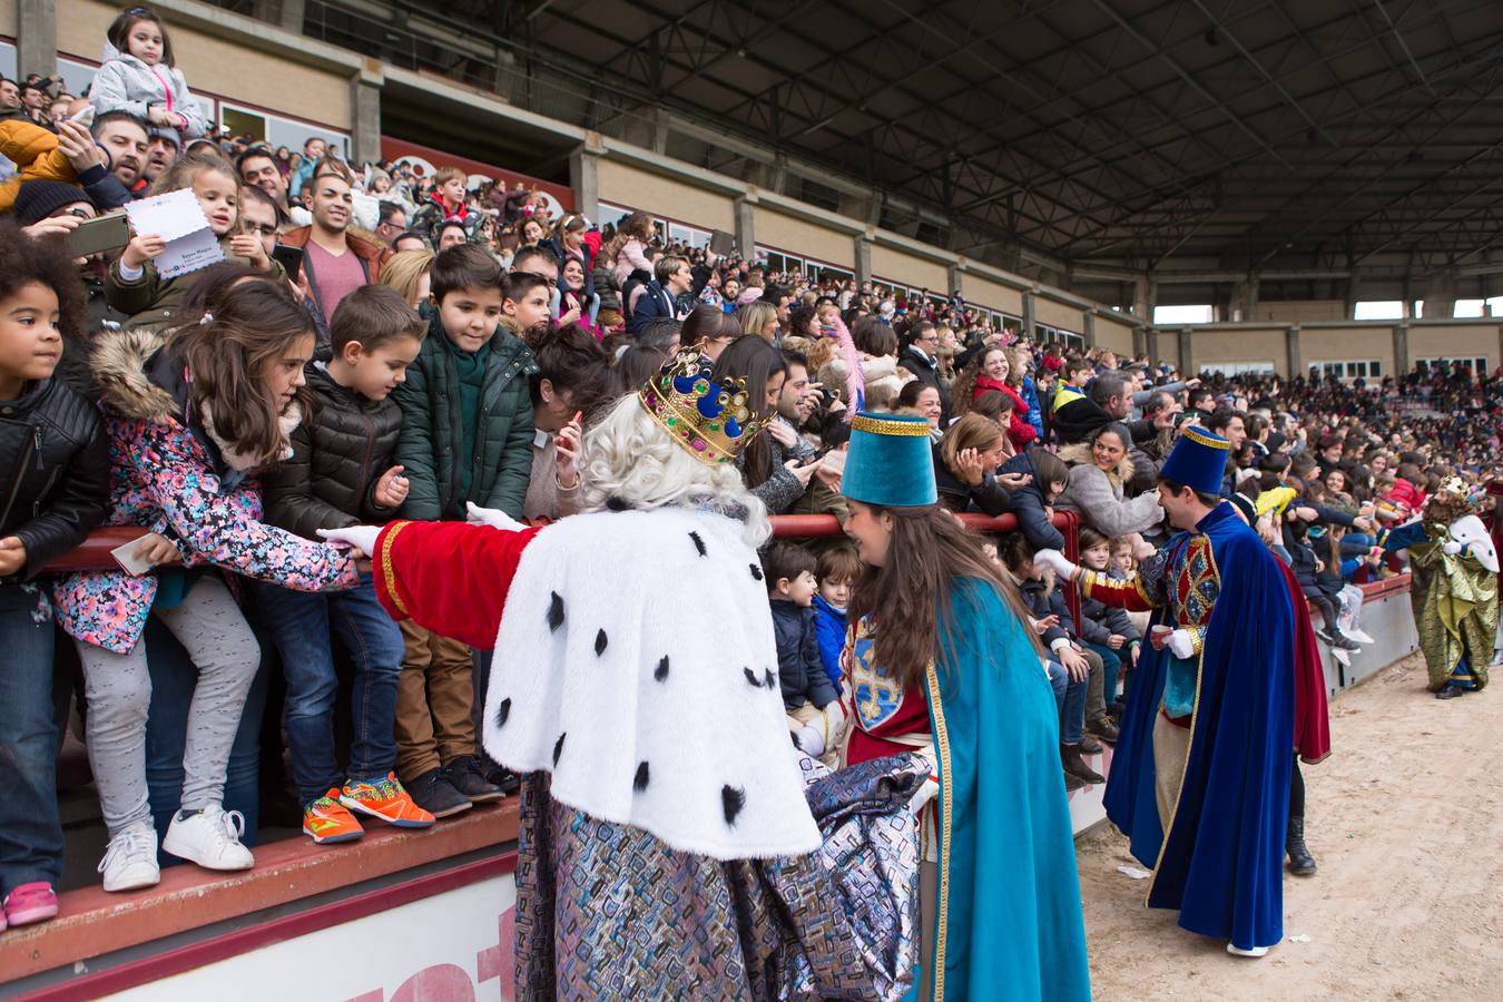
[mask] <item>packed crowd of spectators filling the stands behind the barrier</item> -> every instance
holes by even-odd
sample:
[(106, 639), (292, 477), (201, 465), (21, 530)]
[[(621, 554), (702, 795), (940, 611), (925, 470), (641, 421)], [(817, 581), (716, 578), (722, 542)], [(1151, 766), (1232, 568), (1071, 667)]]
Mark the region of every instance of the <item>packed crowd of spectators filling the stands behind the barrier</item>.
[[(959, 294), (773, 272), (675, 245), (642, 212), (595, 227), (458, 168), (344, 162), (210, 135), (167, 30), (131, 8), (86, 96), (0, 83), (0, 895), (56, 913), (59, 735), (86, 741), (105, 889), (179, 859), (254, 862), (289, 811), (319, 844), (362, 822), (425, 828), (516, 790), (476, 744), (491, 652), (379, 607), (370, 565), (320, 530), (475, 508), (580, 511), (582, 433), (676, 352), (739, 379), (776, 419), (742, 475), (771, 514), (845, 515), (846, 416), (927, 419), (954, 512), (989, 541), (1051, 652), (1070, 789), (1117, 736), (1142, 622), (1073, 613), (1034, 560), (1079, 517), (1087, 566), (1130, 574), (1168, 529), (1154, 478), (1187, 424), (1231, 442), (1223, 496), (1296, 571), (1338, 647), (1347, 584), (1393, 574), (1381, 536), (1450, 475), (1495, 475), (1503, 379), (1417, 368), (1378, 385), (1195, 379), (1147, 356), (1067, 352)], [(132, 200), (189, 189), (222, 248), (164, 276), (159, 234), (69, 239)], [(1399, 404), (1422, 401), (1426, 410)], [(114, 569), (48, 568), (98, 526), (147, 530)], [(839, 536), (765, 556), (795, 741), (831, 756), (845, 602)], [(1360, 631), (1357, 631), (1360, 632)], [(505, 656), (505, 652), (499, 652)], [(54, 700), (54, 681), (57, 699)], [(3, 927), (3, 925), (0, 925)]]

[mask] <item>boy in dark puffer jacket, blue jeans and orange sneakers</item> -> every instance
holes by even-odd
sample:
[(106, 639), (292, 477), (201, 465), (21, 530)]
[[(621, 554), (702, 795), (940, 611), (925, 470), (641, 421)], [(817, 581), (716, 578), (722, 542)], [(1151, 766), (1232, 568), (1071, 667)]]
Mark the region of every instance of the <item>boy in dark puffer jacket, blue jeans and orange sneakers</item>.
[[(266, 520), (317, 539), (320, 529), (383, 523), (407, 499), (392, 466), (401, 409), (389, 400), (418, 356), (427, 324), (389, 285), (362, 285), (340, 300), (329, 324), (334, 358), (307, 368), (317, 409), (292, 434), (292, 458), (265, 479)], [(398, 828), (427, 828), (433, 814), (412, 802), (394, 772), (401, 629), (376, 601), (370, 572), (349, 592), (308, 595), (263, 584), (266, 629), (287, 678), (283, 727), (302, 831), (317, 844), (364, 834), (355, 814)], [(338, 676), (331, 628), (355, 659), (349, 769), (334, 744)], [(353, 811), (353, 813), (352, 813)]]

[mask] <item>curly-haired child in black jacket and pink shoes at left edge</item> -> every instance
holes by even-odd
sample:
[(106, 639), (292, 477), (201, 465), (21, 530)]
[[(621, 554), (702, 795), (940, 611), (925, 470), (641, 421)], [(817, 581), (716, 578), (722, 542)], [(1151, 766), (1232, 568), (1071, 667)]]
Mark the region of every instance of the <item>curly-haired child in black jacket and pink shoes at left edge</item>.
[(104, 518), (110, 452), (93, 406), (53, 379), (87, 321), (57, 237), (0, 224), (0, 930), (57, 915), (63, 873), (53, 720), (53, 608), (44, 568)]

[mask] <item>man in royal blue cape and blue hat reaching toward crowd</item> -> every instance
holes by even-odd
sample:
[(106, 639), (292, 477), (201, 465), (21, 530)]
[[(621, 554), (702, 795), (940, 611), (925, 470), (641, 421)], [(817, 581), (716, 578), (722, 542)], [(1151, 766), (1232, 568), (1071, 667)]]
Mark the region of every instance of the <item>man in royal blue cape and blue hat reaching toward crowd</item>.
[(1261, 957), (1284, 934), (1294, 607), (1279, 565), (1217, 497), (1229, 443), (1187, 427), (1159, 475), (1180, 532), (1126, 581), (1048, 560), (1108, 605), (1153, 610), (1106, 816), (1153, 868), (1148, 906)]

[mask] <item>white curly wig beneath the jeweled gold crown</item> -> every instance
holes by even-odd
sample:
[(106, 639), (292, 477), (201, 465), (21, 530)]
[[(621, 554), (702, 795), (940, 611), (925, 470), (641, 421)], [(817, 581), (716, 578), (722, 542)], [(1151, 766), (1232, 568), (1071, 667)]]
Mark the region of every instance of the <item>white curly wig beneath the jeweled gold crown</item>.
[(773, 535), (767, 506), (747, 493), (735, 464), (708, 466), (669, 437), (636, 394), (628, 394), (585, 431), (580, 479), (585, 511), (607, 502), (634, 509), (709, 506), (745, 514), (745, 541), (761, 547)]

